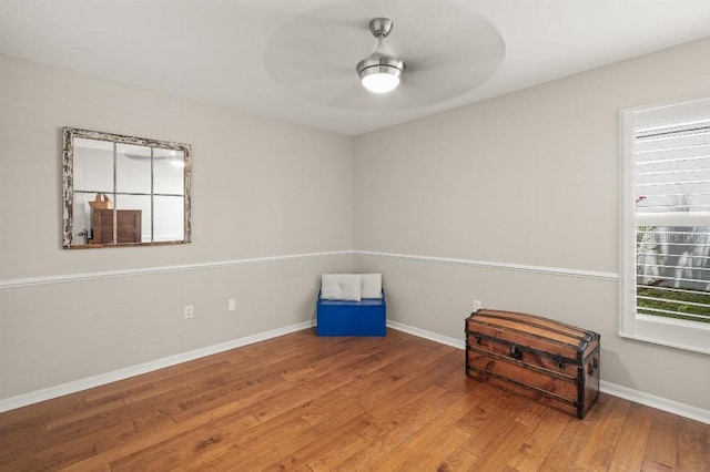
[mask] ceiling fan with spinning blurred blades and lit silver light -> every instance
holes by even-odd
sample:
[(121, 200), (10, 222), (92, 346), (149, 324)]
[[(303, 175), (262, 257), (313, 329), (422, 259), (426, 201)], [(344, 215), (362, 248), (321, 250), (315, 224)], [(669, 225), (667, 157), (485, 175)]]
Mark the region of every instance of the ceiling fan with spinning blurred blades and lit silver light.
[[(367, 30), (377, 39), (374, 52)], [(500, 33), (463, 2), (359, 0), (329, 3), (283, 24), (266, 45), (264, 66), (310, 102), (387, 111), (464, 94), (489, 79), (504, 57)], [(388, 83), (388, 93), (364, 88), (374, 76)]]

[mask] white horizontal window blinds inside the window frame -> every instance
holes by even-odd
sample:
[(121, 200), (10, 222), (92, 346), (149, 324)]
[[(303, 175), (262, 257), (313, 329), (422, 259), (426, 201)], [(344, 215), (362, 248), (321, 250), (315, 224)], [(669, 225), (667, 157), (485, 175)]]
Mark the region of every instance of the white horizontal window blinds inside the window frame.
[(637, 312), (710, 322), (710, 120), (637, 129)]

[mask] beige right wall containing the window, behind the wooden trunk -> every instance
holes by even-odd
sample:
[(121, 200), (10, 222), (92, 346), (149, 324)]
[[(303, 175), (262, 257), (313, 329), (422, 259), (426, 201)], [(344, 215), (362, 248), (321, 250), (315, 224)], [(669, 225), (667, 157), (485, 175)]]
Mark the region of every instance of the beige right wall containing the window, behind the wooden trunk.
[[(602, 335), (605, 381), (710, 409), (710, 357), (617, 335), (618, 111), (710, 92), (710, 39), (358, 136), (354, 248), (388, 318), (463, 339), (473, 300)], [(596, 274), (601, 273), (597, 278)]]

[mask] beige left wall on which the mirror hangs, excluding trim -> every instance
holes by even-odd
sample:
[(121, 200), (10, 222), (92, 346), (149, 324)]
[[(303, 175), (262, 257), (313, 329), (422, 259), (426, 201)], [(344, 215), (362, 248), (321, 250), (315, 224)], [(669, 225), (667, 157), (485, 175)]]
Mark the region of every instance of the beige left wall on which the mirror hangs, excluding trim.
[[(62, 249), (62, 126), (192, 144), (193, 243)], [(351, 270), (345, 254), (23, 285), (347, 250), (348, 136), (0, 55), (0, 400), (308, 321), (320, 274)]]

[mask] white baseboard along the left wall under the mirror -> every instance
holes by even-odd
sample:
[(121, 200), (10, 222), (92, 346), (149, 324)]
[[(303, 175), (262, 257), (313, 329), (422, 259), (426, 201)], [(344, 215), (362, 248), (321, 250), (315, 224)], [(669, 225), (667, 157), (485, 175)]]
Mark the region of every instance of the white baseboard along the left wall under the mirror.
[(36, 390), (33, 392), (6, 398), (0, 400), (0, 412), (14, 410), (16, 408), (26, 407), (28, 404), (38, 403), (44, 400), (51, 400), (53, 398), (62, 397), (69, 393), (75, 393), (82, 390), (115, 382), (118, 380), (124, 380), (130, 377), (140, 376), (142, 373), (152, 372), (165, 367), (171, 367), (182, 362), (200, 359), (202, 357), (229, 351), (230, 349), (241, 348), (242, 346), (252, 345), (254, 342), (277, 338), (278, 336), (301, 331), (302, 329), (310, 328), (313, 325), (313, 320), (304, 321), (297, 325), (291, 325), (284, 328), (272, 329), (270, 331), (258, 332), (256, 335), (246, 336), (244, 338), (234, 339), (227, 342), (222, 342), (220, 345), (209, 346), (206, 348), (195, 349), (193, 351), (183, 352), (175, 356), (169, 356), (138, 366), (126, 367), (124, 369), (114, 370), (112, 372), (101, 373), (99, 376), (62, 383), (60, 386), (49, 387), (47, 389)]

